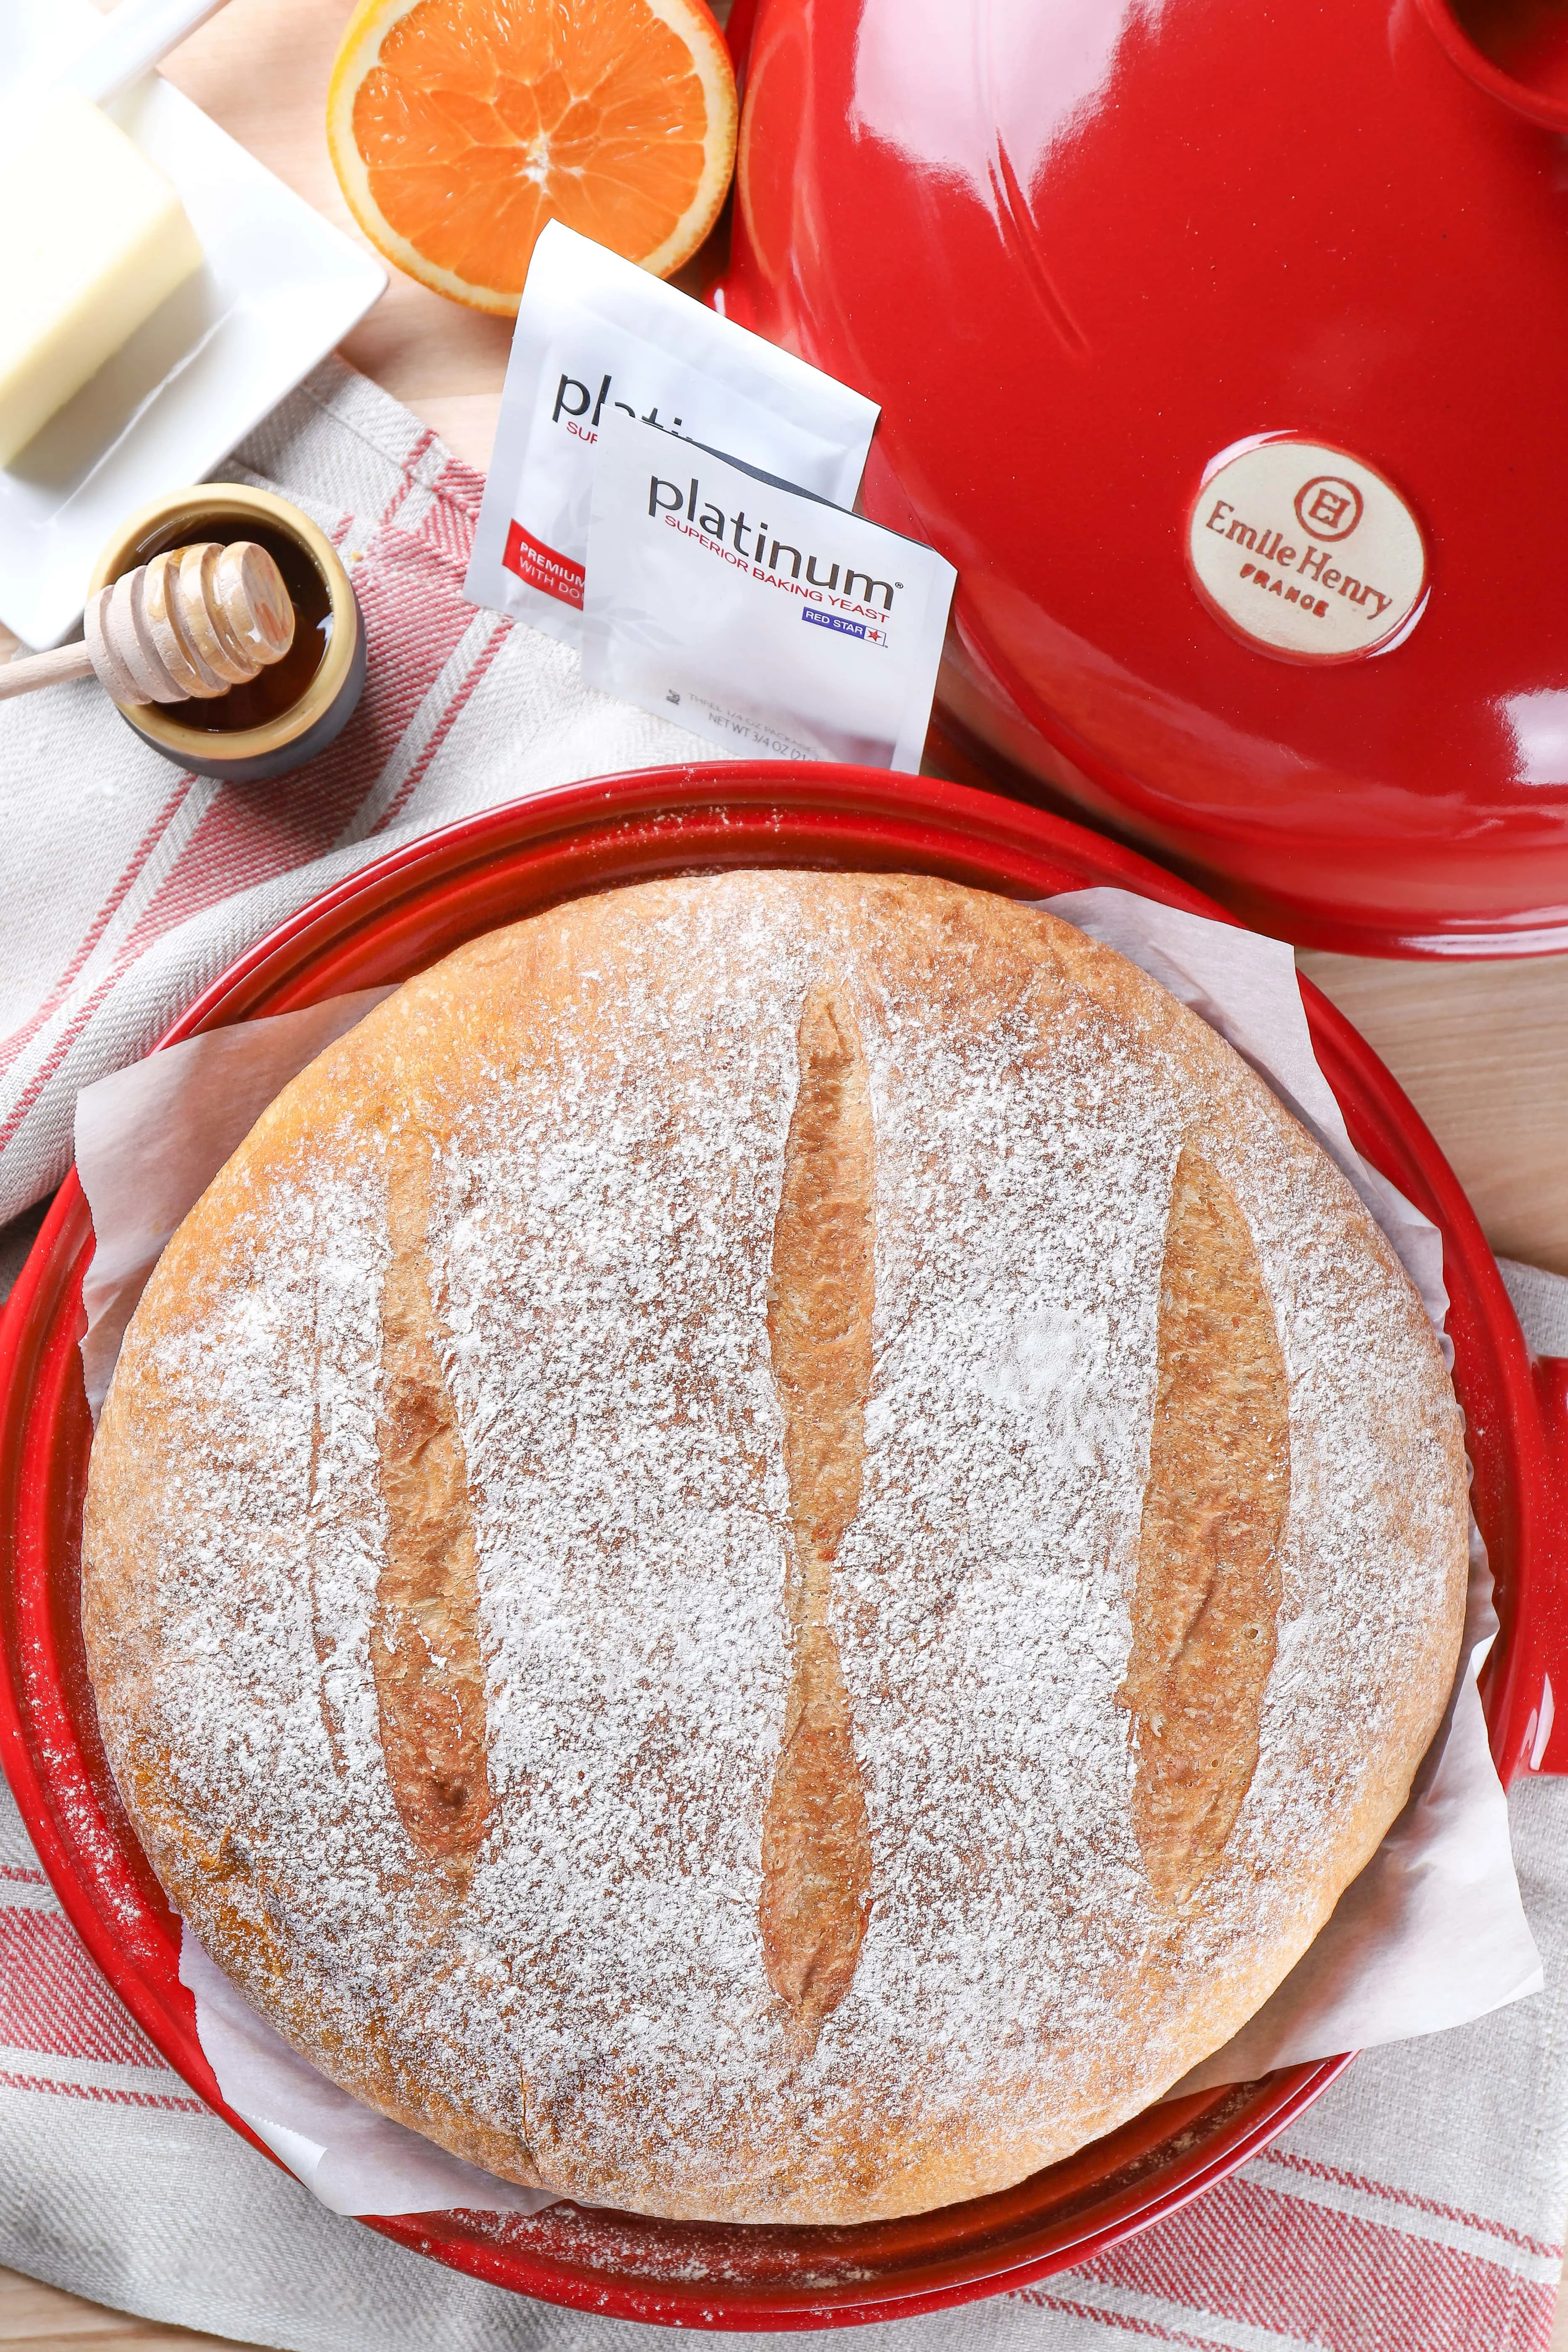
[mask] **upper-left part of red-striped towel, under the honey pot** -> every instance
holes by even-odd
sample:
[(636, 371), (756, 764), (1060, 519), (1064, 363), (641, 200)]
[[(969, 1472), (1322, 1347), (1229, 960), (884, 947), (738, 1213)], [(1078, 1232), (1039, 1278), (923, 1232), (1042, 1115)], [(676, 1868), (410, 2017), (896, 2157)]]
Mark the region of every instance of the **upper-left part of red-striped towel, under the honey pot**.
[(78, 1091), (139, 1061), (327, 884), (522, 793), (724, 757), (463, 602), (482, 477), (341, 360), (223, 473), (280, 489), (336, 543), (364, 612), (364, 701), (331, 750), (266, 786), (181, 774), (92, 682), (0, 703), (0, 1225), (66, 1174)]

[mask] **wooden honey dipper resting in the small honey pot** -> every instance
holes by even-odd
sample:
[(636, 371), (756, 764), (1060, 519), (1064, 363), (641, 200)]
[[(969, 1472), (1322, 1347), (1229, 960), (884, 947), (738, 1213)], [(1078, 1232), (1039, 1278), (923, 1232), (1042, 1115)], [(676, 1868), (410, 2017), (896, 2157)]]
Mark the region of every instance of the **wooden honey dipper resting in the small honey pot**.
[(80, 644), (0, 663), (0, 701), (96, 677), (118, 703), (212, 701), (294, 644), (282, 572), (254, 539), (167, 548), (87, 600)]

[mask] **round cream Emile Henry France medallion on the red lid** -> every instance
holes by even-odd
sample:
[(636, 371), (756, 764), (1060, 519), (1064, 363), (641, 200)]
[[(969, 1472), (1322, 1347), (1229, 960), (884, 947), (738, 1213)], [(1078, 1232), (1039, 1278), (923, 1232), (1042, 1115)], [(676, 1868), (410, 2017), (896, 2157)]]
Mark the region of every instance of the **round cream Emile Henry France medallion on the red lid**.
[(1298, 433), (1211, 459), (1187, 564), (1215, 621), (1281, 661), (1387, 654), (1427, 604), (1427, 548), (1394, 485)]

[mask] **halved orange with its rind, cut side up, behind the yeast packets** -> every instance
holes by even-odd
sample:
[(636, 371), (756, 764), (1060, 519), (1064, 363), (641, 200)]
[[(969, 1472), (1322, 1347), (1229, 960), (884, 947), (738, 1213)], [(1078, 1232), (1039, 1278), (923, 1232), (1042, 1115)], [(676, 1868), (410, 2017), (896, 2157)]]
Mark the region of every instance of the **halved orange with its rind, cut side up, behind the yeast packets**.
[(703, 0), (360, 0), (327, 143), (364, 235), (421, 285), (512, 315), (545, 221), (668, 278), (736, 160)]

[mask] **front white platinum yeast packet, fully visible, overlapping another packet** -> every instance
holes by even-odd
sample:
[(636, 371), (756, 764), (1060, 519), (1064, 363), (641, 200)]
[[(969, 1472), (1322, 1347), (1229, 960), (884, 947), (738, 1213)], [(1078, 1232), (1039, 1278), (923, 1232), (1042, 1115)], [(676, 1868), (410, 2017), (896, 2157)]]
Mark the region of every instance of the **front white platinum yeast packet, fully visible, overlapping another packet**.
[(957, 574), (635, 416), (599, 430), (583, 677), (769, 760), (917, 769)]

